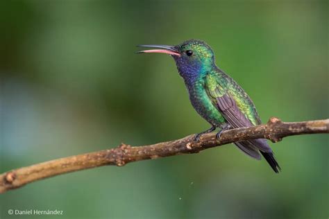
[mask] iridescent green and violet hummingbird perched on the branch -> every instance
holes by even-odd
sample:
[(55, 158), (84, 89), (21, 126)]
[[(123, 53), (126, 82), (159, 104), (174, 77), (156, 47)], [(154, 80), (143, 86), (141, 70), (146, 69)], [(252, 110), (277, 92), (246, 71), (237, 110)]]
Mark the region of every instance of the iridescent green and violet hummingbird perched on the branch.
[[(215, 64), (214, 52), (201, 40), (187, 40), (176, 46), (140, 45), (149, 50), (137, 53), (165, 53), (176, 62), (178, 73), (183, 78), (189, 100), (200, 116), (210, 123), (211, 128), (194, 137), (199, 141), (202, 134), (217, 128), (217, 138), (230, 128), (260, 125), (260, 116), (251, 98), (233, 78)], [(274, 172), (281, 170), (266, 139), (238, 141), (235, 145), (246, 155), (260, 160), (266, 159)]]

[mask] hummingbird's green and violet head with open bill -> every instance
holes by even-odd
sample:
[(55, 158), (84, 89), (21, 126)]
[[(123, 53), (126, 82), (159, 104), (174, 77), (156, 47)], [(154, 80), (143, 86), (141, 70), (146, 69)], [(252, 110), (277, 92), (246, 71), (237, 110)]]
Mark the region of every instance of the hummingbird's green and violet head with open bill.
[(201, 40), (187, 40), (177, 46), (140, 45), (153, 49), (137, 53), (166, 53), (171, 55), (177, 69), (185, 79), (196, 78), (214, 67), (214, 53), (208, 44)]

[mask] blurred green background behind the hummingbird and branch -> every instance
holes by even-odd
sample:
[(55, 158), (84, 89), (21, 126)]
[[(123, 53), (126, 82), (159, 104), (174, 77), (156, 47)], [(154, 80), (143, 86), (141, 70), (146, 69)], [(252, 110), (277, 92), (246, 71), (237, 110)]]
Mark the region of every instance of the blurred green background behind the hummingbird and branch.
[[(169, 55), (137, 44), (205, 40), (263, 122), (328, 118), (328, 1), (2, 1), (4, 172), (209, 128)], [(233, 145), (60, 175), (0, 195), (47, 218), (328, 218), (328, 136), (271, 144), (282, 167)]]

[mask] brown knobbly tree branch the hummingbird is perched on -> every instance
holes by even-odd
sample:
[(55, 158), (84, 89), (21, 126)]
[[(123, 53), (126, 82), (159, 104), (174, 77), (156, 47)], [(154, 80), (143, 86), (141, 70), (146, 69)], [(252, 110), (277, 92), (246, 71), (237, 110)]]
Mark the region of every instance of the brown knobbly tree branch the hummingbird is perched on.
[(196, 153), (207, 148), (248, 139), (264, 138), (278, 142), (287, 136), (317, 133), (329, 133), (329, 119), (283, 123), (280, 119), (272, 117), (264, 125), (227, 130), (221, 134), (220, 139), (216, 139), (215, 133), (210, 133), (203, 134), (198, 142), (194, 141), (194, 135), (189, 135), (183, 139), (155, 143), (149, 146), (131, 147), (121, 143), (117, 148), (54, 159), (33, 166), (10, 170), (0, 175), (0, 193), (17, 189), (47, 177), (97, 166), (124, 166), (133, 161)]

